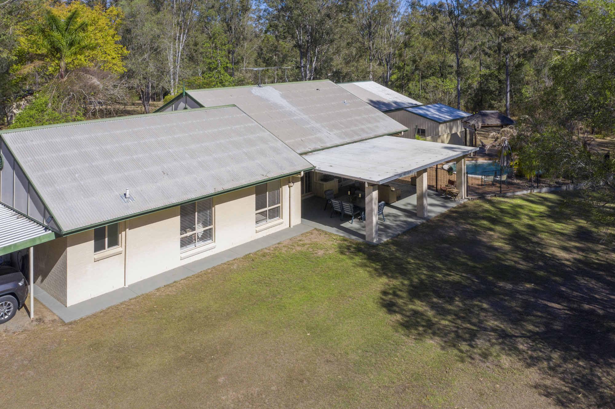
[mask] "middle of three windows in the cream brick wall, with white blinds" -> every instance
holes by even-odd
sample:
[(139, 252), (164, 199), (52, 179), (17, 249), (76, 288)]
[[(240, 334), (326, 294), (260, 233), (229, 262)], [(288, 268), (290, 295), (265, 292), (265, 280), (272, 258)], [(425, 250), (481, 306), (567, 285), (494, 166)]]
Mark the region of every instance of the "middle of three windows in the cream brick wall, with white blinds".
[(213, 241), (212, 198), (180, 206), (180, 251)]

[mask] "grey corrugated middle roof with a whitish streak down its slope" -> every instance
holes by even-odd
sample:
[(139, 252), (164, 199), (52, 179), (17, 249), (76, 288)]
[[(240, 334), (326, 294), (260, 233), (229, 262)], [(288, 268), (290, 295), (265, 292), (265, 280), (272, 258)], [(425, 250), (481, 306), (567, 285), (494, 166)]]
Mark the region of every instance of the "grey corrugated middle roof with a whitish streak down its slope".
[(204, 106), (236, 104), (301, 154), (406, 128), (330, 81), (188, 91)]

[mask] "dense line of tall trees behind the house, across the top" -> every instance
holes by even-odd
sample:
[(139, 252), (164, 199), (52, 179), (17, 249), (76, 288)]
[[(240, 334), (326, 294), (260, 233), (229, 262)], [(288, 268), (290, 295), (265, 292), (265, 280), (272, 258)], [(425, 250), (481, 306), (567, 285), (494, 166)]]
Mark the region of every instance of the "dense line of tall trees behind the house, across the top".
[[(87, 117), (133, 95), (149, 112), (183, 84), (371, 79), (424, 103), (610, 131), (613, 14), (604, 0), (4, 0), (3, 120), (39, 92)], [(79, 44), (61, 61), (67, 17)], [(263, 67), (281, 68), (250, 70)]]

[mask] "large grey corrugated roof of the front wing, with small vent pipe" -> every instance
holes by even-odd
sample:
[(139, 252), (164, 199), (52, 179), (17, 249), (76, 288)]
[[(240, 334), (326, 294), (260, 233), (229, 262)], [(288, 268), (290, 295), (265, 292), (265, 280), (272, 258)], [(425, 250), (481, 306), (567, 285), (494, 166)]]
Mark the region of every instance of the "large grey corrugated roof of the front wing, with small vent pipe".
[[(63, 233), (312, 168), (234, 106), (25, 128), (2, 138)], [(121, 198), (126, 189), (130, 203)]]

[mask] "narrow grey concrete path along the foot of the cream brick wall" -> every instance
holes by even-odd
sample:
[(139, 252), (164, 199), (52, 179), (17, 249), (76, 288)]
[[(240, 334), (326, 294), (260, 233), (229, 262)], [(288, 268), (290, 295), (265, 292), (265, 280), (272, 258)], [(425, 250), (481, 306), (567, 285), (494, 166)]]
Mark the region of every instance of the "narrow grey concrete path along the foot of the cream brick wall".
[(74, 321), (97, 311), (104, 310), (109, 306), (129, 300), (130, 298), (137, 297), (137, 295), (145, 294), (151, 290), (194, 275), (200, 271), (207, 270), (208, 268), (237, 259), (238, 257), (264, 249), (265, 247), (273, 246), (274, 244), (280, 243), (280, 241), (288, 240), (289, 238), (309, 232), (312, 228), (313, 227), (304, 224), (285, 228), (279, 232), (271, 233), (270, 235), (256, 240), (248, 241), (248, 243), (240, 244), (231, 249), (210, 255), (204, 259), (196, 260), (195, 262), (173, 268), (173, 270), (165, 271), (159, 275), (135, 282), (128, 287), (122, 287), (68, 307), (62, 305), (62, 303), (47, 294), (45, 290), (41, 289), (41, 287), (36, 284), (34, 284), (34, 298), (39, 300), (64, 322)]

